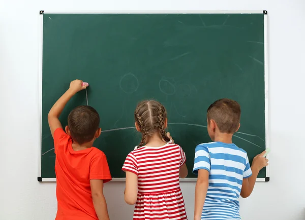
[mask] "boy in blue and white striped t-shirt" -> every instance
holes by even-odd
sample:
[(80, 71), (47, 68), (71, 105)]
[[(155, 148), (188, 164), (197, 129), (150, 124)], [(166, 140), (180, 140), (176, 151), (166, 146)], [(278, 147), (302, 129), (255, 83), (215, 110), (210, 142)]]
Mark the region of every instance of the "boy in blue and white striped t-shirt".
[(268, 165), (263, 152), (250, 167), (247, 153), (232, 143), (239, 121), (236, 101), (220, 99), (207, 109), (207, 131), (214, 142), (199, 144), (195, 150), (194, 220), (241, 219), (239, 195), (250, 196), (259, 171)]

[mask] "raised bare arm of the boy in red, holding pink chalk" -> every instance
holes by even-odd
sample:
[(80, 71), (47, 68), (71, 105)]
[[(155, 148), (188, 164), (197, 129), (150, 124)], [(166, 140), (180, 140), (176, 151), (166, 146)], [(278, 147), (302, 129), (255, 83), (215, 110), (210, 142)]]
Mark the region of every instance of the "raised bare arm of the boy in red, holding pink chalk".
[(85, 88), (86, 88), (86, 86), (82, 86), (81, 80), (74, 80), (70, 83), (70, 88), (67, 90), (67, 92), (55, 102), (55, 104), (53, 105), (53, 107), (51, 108), (51, 110), (48, 114), (48, 122), (49, 122), (52, 137), (54, 137), (54, 131), (57, 128), (62, 128), (62, 124), (60, 123), (58, 118), (59, 118), (60, 114), (62, 114), (67, 102), (78, 91), (83, 90)]

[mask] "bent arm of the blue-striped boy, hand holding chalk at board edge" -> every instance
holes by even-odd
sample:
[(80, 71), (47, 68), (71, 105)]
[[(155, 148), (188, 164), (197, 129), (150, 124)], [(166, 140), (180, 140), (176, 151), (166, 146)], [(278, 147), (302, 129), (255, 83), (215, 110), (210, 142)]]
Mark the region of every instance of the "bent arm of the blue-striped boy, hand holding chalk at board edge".
[(268, 159), (263, 157), (265, 153), (266, 152), (264, 151), (253, 159), (251, 166), (252, 176), (242, 180), (242, 187), (240, 192), (240, 196), (242, 198), (247, 198), (251, 195), (259, 171), (268, 165)]

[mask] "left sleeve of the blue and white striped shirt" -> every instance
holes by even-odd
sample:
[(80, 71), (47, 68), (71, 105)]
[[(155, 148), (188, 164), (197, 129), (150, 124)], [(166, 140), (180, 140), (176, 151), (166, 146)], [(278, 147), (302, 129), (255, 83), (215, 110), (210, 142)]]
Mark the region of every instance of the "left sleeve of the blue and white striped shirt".
[(205, 169), (208, 172), (210, 171), (211, 162), (210, 155), (207, 146), (200, 144), (196, 147), (195, 150), (195, 161), (193, 173), (198, 174), (198, 170)]

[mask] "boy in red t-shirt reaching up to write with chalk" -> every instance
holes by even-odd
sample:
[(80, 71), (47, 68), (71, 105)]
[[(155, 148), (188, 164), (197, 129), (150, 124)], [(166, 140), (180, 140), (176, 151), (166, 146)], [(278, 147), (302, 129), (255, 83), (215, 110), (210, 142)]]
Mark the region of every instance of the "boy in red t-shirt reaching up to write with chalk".
[(48, 115), (56, 154), (56, 220), (109, 220), (103, 184), (111, 175), (105, 154), (92, 146), (101, 134), (99, 114), (90, 106), (74, 108), (66, 132), (58, 120), (70, 98), (85, 88), (72, 81)]

